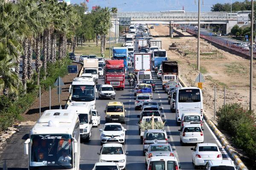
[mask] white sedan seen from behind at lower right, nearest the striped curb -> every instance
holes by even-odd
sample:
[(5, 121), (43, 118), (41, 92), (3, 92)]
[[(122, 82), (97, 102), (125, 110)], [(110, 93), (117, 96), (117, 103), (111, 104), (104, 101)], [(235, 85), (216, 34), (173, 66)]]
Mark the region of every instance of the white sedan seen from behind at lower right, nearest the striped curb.
[(222, 160), (221, 152), (214, 143), (201, 143), (197, 144), (195, 148), (191, 148), (192, 163), (197, 169), (197, 166), (205, 166), (209, 160)]

